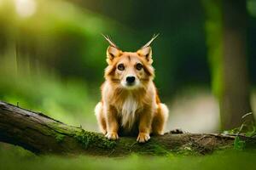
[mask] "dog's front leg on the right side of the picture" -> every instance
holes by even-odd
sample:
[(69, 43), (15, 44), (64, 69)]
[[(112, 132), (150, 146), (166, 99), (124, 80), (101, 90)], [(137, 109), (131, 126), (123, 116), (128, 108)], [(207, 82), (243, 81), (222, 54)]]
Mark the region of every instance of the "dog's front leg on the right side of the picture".
[(140, 113), (139, 120), (139, 134), (137, 136), (137, 142), (144, 143), (150, 139), (149, 133), (152, 123), (152, 110), (151, 108), (145, 108)]

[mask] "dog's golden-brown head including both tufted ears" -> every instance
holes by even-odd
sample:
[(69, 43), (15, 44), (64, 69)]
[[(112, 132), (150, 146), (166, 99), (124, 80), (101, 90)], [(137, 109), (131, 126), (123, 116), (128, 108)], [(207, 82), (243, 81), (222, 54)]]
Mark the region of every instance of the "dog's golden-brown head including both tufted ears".
[(154, 79), (152, 49), (149, 45), (155, 37), (157, 36), (137, 52), (123, 52), (105, 37), (110, 43), (107, 49), (108, 67), (105, 70), (105, 78), (119, 88), (132, 90), (145, 87)]

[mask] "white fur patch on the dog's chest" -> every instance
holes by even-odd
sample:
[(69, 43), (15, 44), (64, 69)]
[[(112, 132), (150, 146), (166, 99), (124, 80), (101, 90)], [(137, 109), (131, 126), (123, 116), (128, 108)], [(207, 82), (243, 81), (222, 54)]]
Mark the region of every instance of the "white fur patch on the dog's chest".
[(128, 95), (125, 99), (123, 107), (120, 109), (121, 114), (121, 123), (123, 127), (131, 129), (136, 118), (136, 111), (138, 109), (137, 100), (134, 99), (131, 95)]

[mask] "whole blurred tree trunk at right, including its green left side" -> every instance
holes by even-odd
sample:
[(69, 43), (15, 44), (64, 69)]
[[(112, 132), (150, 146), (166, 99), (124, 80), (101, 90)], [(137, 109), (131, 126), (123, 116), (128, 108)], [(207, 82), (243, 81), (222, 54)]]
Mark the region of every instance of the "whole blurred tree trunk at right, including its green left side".
[(206, 9), (212, 90), (218, 97), (222, 130), (254, 122), (247, 72), (246, 0), (202, 0)]

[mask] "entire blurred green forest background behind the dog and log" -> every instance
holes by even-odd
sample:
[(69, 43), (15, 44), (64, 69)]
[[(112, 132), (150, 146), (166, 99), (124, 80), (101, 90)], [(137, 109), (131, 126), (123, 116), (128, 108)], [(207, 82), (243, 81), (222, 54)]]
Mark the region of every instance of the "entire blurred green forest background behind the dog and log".
[(256, 111), (256, 0), (0, 0), (0, 100), (97, 131), (102, 33), (124, 51), (160, 33), (166, 129), (218, 132)]

